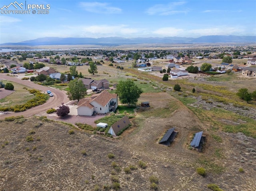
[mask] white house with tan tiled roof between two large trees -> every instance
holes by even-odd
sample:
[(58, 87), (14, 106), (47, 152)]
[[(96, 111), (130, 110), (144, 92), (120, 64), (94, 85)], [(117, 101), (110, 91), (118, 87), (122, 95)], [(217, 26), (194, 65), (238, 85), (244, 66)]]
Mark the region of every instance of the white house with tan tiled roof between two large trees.
[(78, 102), (77, 113), (83, 116), (92, 116), (94, 113), (114, 112), (118, 106), (117, 94), (104, 90), (90, 98), (83, 98)]

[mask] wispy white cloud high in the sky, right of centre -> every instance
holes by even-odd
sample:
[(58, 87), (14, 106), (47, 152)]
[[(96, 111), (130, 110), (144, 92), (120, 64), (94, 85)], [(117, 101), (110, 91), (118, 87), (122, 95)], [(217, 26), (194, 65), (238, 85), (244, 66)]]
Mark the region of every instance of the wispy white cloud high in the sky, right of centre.
[(188, 10), (186, 10), (184, 7), (180, 8), (180, 6), (183, 6), (184, 4), (186, 4), (186, 2), (184, 1), (171, 2), (168, 4), (156, 4), (148, 8), (148, 10), (146, 10), (146, 13), (149, 15), (172, 15), (187, 13)]

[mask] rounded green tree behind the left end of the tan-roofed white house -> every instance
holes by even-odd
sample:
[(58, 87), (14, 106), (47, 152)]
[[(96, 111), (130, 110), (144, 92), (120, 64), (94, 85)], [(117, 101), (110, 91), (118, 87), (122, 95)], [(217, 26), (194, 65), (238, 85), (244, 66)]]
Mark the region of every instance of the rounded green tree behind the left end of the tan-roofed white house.
[(86, 93), (86, 88), (84, 87), (82, 80), (74, 79), (68, 83), (69, 91), (67, 92), (68, 98), (70, 100), (77, 100), (84, 98)]

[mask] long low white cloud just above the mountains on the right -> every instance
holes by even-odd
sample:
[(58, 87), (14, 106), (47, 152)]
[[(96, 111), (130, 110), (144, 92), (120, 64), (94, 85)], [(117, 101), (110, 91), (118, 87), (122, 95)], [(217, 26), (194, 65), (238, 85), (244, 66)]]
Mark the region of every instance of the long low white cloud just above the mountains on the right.
[(218, 28), (201, 28), (201, 29), (180, 29), (180, 28), (159, 28), (158, 30), (153, 31), (155, 35), (158, 36), (180, 36), (180, 37), (200, 37), (206, 35), (242, 35), (245, 30), (241, 27), (225, 27), (220, 26)]

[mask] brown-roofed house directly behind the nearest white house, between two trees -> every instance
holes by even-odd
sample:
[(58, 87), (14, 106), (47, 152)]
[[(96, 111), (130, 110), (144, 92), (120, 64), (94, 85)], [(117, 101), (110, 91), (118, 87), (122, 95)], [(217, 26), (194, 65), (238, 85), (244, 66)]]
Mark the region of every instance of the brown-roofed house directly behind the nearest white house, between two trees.
[(108, 89), (109, 88), (109, 81), (106, 79), (102, 80), (93, 80), (87, 78), (80, 78), (83, 81), (84, 87), (86, 89)]

